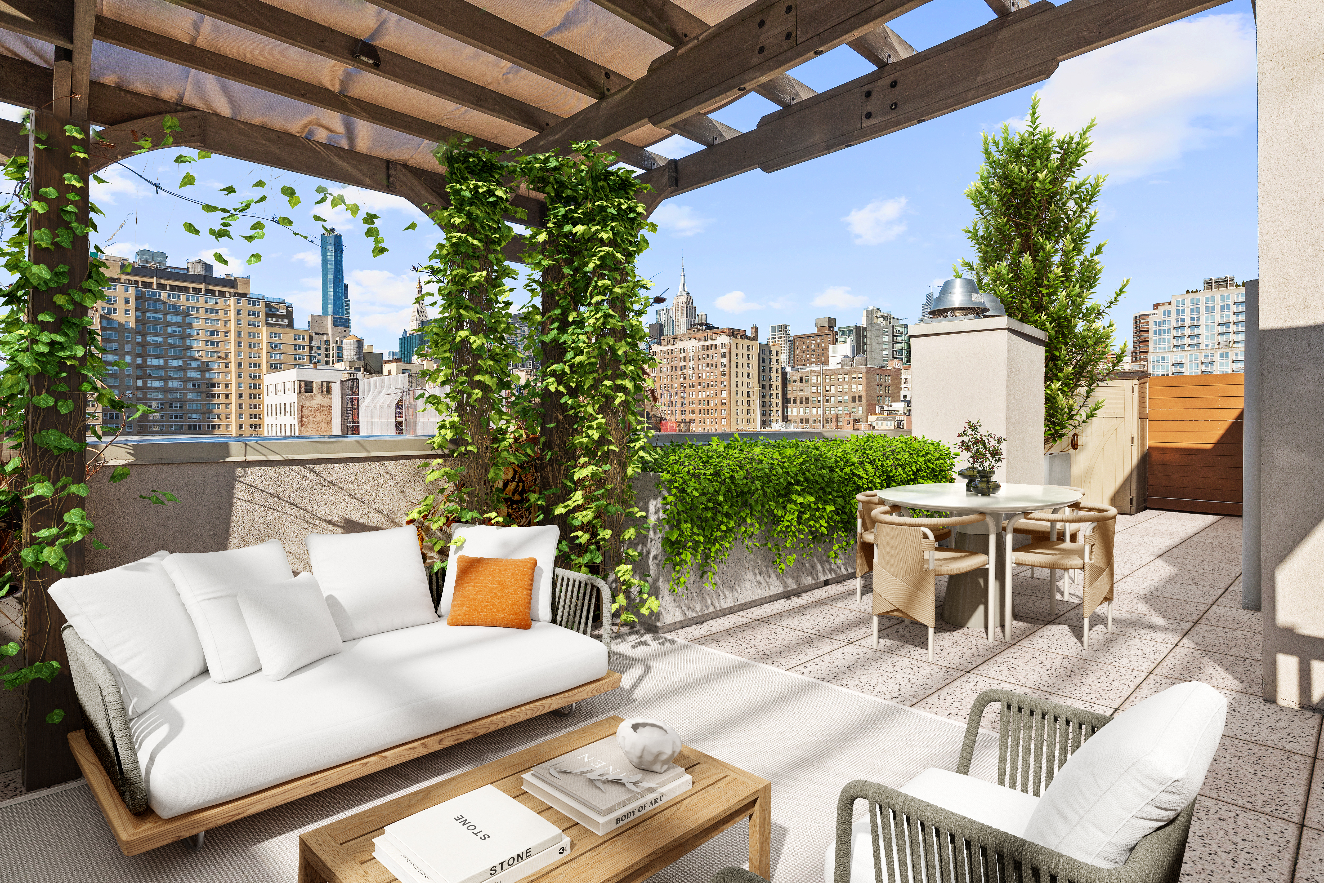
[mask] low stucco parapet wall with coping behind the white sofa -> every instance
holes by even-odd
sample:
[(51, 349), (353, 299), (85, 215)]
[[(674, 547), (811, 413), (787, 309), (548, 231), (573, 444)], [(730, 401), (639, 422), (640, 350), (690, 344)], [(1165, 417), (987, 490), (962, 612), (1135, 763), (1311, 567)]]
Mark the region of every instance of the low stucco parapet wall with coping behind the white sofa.
[[(89, 549), (90, 571), (151, 555), (216, 552), (278, 539), (290, 565), (308, 569), (303, 537), (404, 524), (429, 491), (421, 438), (151, 442), (114, 445), (90, 482), (87, 514), (110, 548)], [(132, 471), (109, 483), (111, 467)], [(154, 506), (139, 495), (171, 491)]]

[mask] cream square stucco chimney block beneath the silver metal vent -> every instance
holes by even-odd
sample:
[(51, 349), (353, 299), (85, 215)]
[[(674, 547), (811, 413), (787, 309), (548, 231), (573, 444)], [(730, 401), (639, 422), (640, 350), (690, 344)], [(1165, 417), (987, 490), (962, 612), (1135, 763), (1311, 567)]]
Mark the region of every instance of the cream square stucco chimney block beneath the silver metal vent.
[(967, 420), (982, 421), (1008, 440), (997, 481), (1042, 485), (1047, 335), (1001, 316), (912, 324), (910, 336), (914, 434), (955, 447)]

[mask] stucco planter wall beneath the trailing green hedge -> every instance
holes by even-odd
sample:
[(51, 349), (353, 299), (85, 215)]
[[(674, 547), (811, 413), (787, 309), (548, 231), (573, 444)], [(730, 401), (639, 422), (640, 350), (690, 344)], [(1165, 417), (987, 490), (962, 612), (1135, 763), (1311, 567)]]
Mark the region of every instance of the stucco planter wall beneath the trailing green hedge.
[[(645, 473), (634, 479), (638, 506), (653, 522), (659, 522), (662, 518), (659, 479), (661, 475), (655, 473)], [(641, 624), (649, 630), (674, 631), (831, 582), (853, 580), (855, 576), (854, 552), (847, 549), (841, 560), (831, 561), (828, 556), (831, 544), (797, 555), (794, 564), (786, 568), (785, 573), (777, 572), (771, 552), (760, 551), (751, 555), (743, 545), (736, 545), (731, 556), (718, 567), (718, 588), (704, 588), (691, 579), (685, 593), (677, 594), (667, 589), (671, 572), (662, 567), (661, 530), (661, 526), (654, 526), (632, 543), (639, 552), (637, 572), (650, 575), (646, 577), (651, 586), (650, 592), (662, 605), (655, 614), (641, 617)], [(841, 590), (846, 592), (850, 588), (853, 584), (842, 585)]]

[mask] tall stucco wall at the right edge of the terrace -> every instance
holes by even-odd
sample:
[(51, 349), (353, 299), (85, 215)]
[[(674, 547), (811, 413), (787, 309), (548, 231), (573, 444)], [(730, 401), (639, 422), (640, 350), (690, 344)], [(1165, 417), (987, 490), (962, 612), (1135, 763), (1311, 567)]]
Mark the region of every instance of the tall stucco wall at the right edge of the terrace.
[(1264, 698), (1324, 706), (1324, 4), (1260, 3), (1260, 593)]

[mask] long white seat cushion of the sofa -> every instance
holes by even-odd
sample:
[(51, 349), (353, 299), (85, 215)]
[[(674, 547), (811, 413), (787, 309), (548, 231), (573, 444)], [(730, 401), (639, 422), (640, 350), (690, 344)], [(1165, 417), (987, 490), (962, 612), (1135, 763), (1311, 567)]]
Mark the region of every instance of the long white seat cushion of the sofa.
[(195, 678), (135, 721), (134, 745), (148, 804), (171, 818), (604, 674), (601, 641), (549, 622), (434, 621), (347, 641), (283, 680)]

